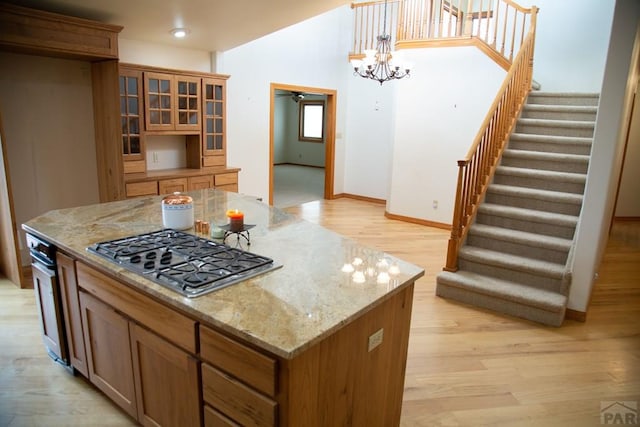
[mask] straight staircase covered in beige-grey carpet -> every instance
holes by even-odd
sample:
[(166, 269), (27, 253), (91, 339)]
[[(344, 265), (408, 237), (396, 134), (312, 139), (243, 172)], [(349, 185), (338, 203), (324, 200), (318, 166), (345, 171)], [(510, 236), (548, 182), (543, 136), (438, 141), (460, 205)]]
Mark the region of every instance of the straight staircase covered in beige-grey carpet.
[(560, 326), (571, 283), (597, 94), (531, 92), (458, 255), (436, 294)]

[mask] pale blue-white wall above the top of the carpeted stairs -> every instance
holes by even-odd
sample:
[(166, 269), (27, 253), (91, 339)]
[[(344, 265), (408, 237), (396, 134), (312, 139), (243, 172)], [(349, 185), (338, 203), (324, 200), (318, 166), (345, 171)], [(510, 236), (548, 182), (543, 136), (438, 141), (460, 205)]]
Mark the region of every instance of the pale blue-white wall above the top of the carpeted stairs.
[(533, 78), (549, 92), (599, 92), (615, 0), (518, 0), (538, 6)]

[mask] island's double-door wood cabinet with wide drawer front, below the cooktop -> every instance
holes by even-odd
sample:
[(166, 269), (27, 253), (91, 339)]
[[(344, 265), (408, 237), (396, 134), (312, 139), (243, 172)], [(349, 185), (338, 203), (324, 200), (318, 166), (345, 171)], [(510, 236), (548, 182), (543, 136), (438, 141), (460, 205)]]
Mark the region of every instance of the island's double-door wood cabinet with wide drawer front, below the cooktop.
[(196, 323), (82, 263), (78, 285), (89, 380), (142, 425), (200, 426)]

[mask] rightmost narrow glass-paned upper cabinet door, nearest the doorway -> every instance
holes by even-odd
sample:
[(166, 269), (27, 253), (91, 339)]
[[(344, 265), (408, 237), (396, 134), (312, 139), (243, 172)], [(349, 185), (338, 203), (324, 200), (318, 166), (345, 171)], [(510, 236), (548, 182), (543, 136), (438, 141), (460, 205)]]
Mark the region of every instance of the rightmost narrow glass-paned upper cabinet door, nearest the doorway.
[(226, 154), (225, 92), (224, 80), (202, 80), (202, 154), (204, 156), (225, 156)]

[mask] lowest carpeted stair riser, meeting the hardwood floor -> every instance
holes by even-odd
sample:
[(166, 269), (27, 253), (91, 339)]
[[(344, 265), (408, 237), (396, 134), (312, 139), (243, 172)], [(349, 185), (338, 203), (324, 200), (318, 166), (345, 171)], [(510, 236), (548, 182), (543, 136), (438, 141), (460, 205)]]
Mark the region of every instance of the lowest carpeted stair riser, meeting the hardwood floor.
[(551, 312), (447, 284), (438, 283), (436, 295), (549, 326), (561, 326), (564, 320), (565, 310)]

